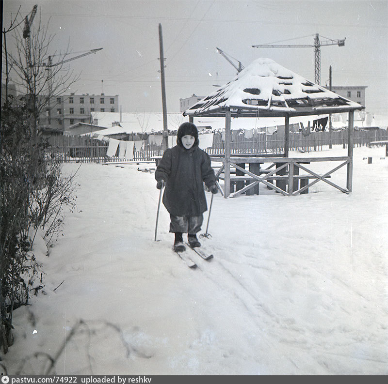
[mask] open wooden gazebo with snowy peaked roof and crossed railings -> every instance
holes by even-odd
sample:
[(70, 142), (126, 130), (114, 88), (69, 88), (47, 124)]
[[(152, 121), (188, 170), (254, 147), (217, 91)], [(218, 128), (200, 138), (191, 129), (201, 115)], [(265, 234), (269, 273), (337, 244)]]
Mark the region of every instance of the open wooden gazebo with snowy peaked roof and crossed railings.
[[(201, 116), (225, 118), (225, 156), (211, 156), (211, 160), (222, 163), (217, 177), (225, 180), (226, 198), (243, 192), (258, 194), (259, 183), (266, 184), (283, 195), (294, 196), (307, 193), (308, 187), (318, 181), (328, 183), (344, 193), (352, 191), (354, 111), (363, 108), (365, 107), (308, 81), (271, 59), (261, 58), (253, 61), (231, 81), (198, 101), (183, 115), (189, 116), (190, 122)], [(347, 156), (289, 157), (290, 117), (342, 112), (349, 113)], [(283, 156), (231, 155), (231, 118), (243, 117), (284, 117)], [(341, 161), (341, 164), (323, 175), (303, 165), (316, 161)], [(261, 168), (260, 165), (264, 163), (270, 165), (265, 169)], [(249, 169), (245, 169), (246, 164)], [(328, 180), (331, 173), (344, 165), (347, 165), (346, 188)], [(231, 167), (236, 169), (236, 175), (231, 175)], [(299, 170), (307, 173), (301, 175)], [(240, 184), (240, 189), (231, 193), (233, 183)]]

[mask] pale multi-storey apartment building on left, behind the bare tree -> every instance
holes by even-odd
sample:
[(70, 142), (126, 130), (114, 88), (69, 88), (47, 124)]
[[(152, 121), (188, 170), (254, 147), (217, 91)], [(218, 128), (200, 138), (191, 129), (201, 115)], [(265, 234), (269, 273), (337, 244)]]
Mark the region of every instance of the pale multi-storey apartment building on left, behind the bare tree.
[[(91, 112), (118, 112), (118, 95), (75, 94), (47, 98), (38, 125), (46, 132), (63, 133), (70, 125), (90, 123)], [(49, 101), (49, 103), (48, 103)]]

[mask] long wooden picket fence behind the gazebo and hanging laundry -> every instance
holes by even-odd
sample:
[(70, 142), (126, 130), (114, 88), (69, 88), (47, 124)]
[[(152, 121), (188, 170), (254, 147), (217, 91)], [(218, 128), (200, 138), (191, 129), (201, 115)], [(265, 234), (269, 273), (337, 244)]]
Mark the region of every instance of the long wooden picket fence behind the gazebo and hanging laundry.
[[(201, 138), (199, 136), (199, 138)], [(347, 131), (332, 132), (331, 140), (329, 132), (313, 132), (308, 136), (301, 133), (290, 132), (289, 151), (314, 152), (322, 151), (324, 145), (342, 145), (346, 148), (348, 138)], [(66, 163), (74, 162), (122, 162), (127, 161), (118, 156), (108, 157), (106, 155), (108, 144), (97, 139), (84, 138), (80, 136), (58, 136), (48, 138), (50, 147), (48, 152), (55, 154), (61, 161)], [(387, 140), (388, 132), (384, 130), (355, 131), (354, 146), (368, 146), (371, 141)], [(224, 154), (224, 142), (220, 134), (215, 133), (213, 145), (205, 150), (210, 155)], [(282, 154), (284, 153), (284, 135), (258, 134), (252, 138), (245, 138), (244, 135), (236, 136), (231, 142), (231, 154)], [(161, 146), (145, 144), (141, 151), (133, 153), (133, 162), (152, 161), (154, 156), (162, 156)]]

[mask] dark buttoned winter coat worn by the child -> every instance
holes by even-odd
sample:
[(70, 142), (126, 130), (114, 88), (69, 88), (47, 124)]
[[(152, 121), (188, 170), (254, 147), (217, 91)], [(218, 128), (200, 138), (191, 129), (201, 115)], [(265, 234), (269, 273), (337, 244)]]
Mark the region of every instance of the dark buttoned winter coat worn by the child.
[(164, 180), (163, 204), (174, 216), (199, 216), (207, 209), (204, 185), (215, 184), (209, 155), (198, 148), (198, 140), (190, 149), (178, 145), (164, 151), (155, 171), (157, 181)]

